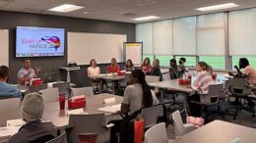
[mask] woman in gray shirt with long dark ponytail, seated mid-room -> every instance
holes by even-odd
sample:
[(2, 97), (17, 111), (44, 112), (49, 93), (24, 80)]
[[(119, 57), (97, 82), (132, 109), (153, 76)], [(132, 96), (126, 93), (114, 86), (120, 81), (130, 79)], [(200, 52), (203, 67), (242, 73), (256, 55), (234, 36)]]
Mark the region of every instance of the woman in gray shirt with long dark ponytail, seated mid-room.
[[(123, 115), (132, 115), (142, 108), (150, 108), (158, 105), (159, 101), (155, 93), (148, 85), (145, 73), (141, 70), (132, 71), (129, 83), (124, 91), (124, 98), (121, 104), (121, 113)], [(123, 120), (111, 120), (110, 122), (115, 124), (111, 128), (110, 142), (117, 143), (117, 135), (121, 130), (121, 122)]]

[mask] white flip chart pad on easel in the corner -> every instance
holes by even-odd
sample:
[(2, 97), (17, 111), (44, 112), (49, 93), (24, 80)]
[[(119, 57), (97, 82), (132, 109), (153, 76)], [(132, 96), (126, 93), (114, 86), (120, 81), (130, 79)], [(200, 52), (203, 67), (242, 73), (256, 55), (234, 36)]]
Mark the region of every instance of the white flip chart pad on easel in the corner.
[(142, 42), (124, 43), (125, 59), (131, 59), (133, 64), (142, 63)]

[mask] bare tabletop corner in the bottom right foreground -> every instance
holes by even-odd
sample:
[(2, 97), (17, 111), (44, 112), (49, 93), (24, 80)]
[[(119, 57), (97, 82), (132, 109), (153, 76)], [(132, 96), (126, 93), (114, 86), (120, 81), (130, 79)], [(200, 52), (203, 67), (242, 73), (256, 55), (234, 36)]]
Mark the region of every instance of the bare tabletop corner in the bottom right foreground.
[(255, 143), (255, 135), (255, 128), (214, 120), (171, 143)]

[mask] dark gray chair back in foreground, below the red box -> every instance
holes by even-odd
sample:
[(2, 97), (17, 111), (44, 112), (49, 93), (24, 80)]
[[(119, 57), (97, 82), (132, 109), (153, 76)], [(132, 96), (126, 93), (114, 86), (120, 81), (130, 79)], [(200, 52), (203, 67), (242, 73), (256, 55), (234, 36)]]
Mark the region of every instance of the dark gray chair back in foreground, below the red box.
[[(67, 130), (68, 142), (78, 143), (79, 135), (88, 134), (103, 134), (105, 132), (103, 126), (105, 125), (104, 114), (96, 115), (70, 115), (69, 127)], [(97, 140), (98, 139), (97, 137)]]

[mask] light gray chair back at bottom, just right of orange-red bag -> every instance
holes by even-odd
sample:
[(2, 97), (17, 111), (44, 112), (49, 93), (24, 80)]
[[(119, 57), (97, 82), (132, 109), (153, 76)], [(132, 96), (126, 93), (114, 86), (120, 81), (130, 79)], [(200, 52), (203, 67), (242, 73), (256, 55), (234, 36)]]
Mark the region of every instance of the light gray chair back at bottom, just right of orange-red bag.
[(145, 133), (145, 143), (167, 143), (165, 123), (158, 123), (149, 128)]

